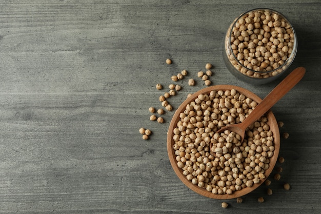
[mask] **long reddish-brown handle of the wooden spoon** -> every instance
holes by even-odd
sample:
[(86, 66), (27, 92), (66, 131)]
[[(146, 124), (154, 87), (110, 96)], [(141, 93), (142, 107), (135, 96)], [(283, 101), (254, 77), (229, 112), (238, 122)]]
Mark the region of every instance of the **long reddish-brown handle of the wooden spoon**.
[(257, 119), (260, 118), (265, 112), (267, 112), (277, 101), (289, 92), (304, 76), (306, 69), (304, 67), (298, 67), (294, 69), (285, 79), (280, 82), (264, 99), (260, 102), (250, 115), (240, 124), (247, 128)]

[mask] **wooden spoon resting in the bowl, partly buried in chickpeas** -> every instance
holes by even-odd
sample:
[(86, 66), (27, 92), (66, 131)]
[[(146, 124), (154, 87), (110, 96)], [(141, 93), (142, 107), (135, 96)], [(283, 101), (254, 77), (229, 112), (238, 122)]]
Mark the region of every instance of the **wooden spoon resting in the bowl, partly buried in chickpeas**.
[[(238, 124), (228, 125), (220, 128), (216, 133), (220, 134), (226, 130), (234, 132), (240, 136), (240, 142), (243, 142), (245, 137), (245, 131), (252, 123), (260, 118), (264, 113), (266, 113), (277, 101), (279, 101), (283, 96), (289, 92), (304, 76), (306, 69), (304, 67), (298, 67), (294, 69), (285, 79), (280, 82), (263, 100), (260, 102), (254, 110), (248, 115), (248, 117)], [(210, 148), (213, 144), (210, 143)], [(211, 153), (216, 155), (211, 149)]]

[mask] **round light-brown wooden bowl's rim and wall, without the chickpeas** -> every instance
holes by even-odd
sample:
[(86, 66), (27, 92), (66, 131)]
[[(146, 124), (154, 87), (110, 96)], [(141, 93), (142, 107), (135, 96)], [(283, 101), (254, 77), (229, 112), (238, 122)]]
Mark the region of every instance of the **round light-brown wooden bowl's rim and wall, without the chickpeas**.
[(233, 199), (233, 198), (241, 197), (241, 196), (244, 196), (245, 194), (253, 191), (254, 189), (256, 189), (260, 184), (264, 183), (264, 181), (266, 180), (266, 178), (268, 178), (269, 174), (272, 172), (272, 170), (275, 166), (275, 163), (278, 158), (279, 148), (280, 148), (280, 135), (279, 135), (278, 124), (277, 124), (277, 121), (274, 117), (274, 114), (272, 113), (271, 110), (269, 110), (266, 113), (266, 116), (268, 118), (267, 123), (270, 126), (270, 130), (273, 132), (273, 138), (274, 138), (273, 143), (274, 143), (275, 150), (273, 151), (273, 156), (270, 158), (269, 168), (267, 170), (265, 170), (265, 173), (264, 173), (265, 178), (264, 179), (260, 179), (260, 182), (258, 184), (253, 184), (252, 187), (245, 187), (245, 188), (242, 188), (241, 190), (236, 190), (232, 194), (214, 194), (212, 192), (207, 191), (205, 188), (198, 187), (197, 185), (192, 184), (191, 181), (187, 180), (186, 176), (184, 176), (184, 174), (183, 174), (183, 170), (177, 166), (175, 150), (173, 149), (173, 145), (174, 145), (173, 130), (176, 127), (177, 122), (180, 119), (179, 114), (181, 112), (184, 112), (184, 110), (186, 109), (186, 105), (189, 104), (190, 102), (194, 101), (199, 94), (209, 94), (210, 91), (212, 91), (212, 90), (218, 91), (218, 90), (231, 90), (231, 89), (235, 89), (239, 93), (243, 93), (244, 95), (247, 96), (247, 98), (251, 98), (253, 101), (255, 101), (257, 103), (262, 101), (262, 99), (260, 99), (257, 95), (255, 95), (251, 91), (248, 91), (244, 88), (240, 88), (237, 86), (216, 85), (216, 86), (204, 88), (204, 89), (199, 90), (199, 91), (195, 92), (194, 94), (192, 94), (188, 99), (186, 99), (178, 107), (178, 109), (175, 111), (175, 113), (173, 115), (173, 118), (172, 118), (171, 123), (169, 125), (168, 133), (167, 133), (167, 152), (168, 152), (170, 163), (171, 163), (176, 175), (178, 176), (178, 178), (187, 187), (189, 187), (193, 191), (197, 192), (198, 194), (201, 194), (202, 196), (205, 196), (208, 198), (213, 198), (213, 199)]

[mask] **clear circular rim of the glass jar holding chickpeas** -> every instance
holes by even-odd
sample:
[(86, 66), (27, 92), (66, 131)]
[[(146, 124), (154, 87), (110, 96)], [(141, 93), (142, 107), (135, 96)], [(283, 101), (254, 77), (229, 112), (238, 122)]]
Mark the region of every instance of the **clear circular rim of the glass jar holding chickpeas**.
[(251, 10), (248, 10), (244, 13), (242, 13), (241, 15), (239, 15), (232, 23), (231, 25), (231, 29), (230, 29), (230, 33), (229, 33), (229, 40), (228, 40), (228, 45), (229, 45), (229, 48), (230, 50), (232, 50), (232, 43), (231, 43), (231, 35), (232, 35), (232, 32), (233, 32), (233, 28), (235, 27), (235, 24), (239, 21), (240, 18), (242, 18), (243, 16), (245, 16), (246, 14), (250, 13), (250, 12), (253, 12), (253, 11), (258, 11), (258, 10), (264, 10), (264, 11), (271, 11), (271, 12), (274, 12), (274, 13), (277, 13), (278, 15), (282, 16), (282, 18), (284, 18), (284, 20), (290, 25), (291, 29), (292, 29), (292, 32), (293, 32), (293, 35), (294, 35), (294, 42), (293, 42), (293, 50), (291, 52), (291, 54), (288, 56), (287, 60), (280, 66), (278, 66), (277, 68), (275, 69), (272, 69), (270, 71), (256, 71), (256, 70), (253, 70), (253, 69), (250, 69), (248, 67), (246, 67), (245, 65), (243, 65), (242, 63), (239, 62), (239, 60), (237, 60), (237, 57), (235, 56), (235, 54), (233, 53), (233, 51), (231, 51), (231, 54), (234, 58), (234, 60), (237, 62), (237, 64), (239, 66), (241, 66), (242, 68), (245, 68), (253, 73), (272, 73), (274, 71), (277, 71), (281, 68), (283, 68), (284, 66), (286, 66), (288, 64), (288, 62), (290, 60), (292, 60), (292, 58), (294, 59), (294, 56), (296, 55), (296, 51), (297, 51), (297, 37), (296, 37), (296, 33), (295, 33), (295, 30), (292, 26), (292, 24), (289, 22), (288, 18), (286, 16), (284, 16), (282, 13), (276, 11), (276, 10), (273, 10), (273, 9), (269, 9), (269, 8), (255, 8), (255, 9), (251, 9)]

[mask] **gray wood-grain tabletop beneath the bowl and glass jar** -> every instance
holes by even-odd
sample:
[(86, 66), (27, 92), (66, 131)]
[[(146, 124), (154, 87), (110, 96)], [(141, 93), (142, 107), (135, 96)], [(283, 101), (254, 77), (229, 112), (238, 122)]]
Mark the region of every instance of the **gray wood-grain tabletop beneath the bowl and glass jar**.
[[(321, 2), (277, 2), (1, 1), (0, 213), (320, 213)], [(264, 98), (280, 80), (241, 82), (222, 57), (229, 24), (257, 7), (289, 18), (299, 43), (291, 69), (307, 73), (272, 108), (290, 134), (272, 196), (263, 185), (223, 209), (175, 175), (166, 149), (174, 111), (158, 124), (148, 108), (165, 91), (155, 85), (183, 69), (196, 85), (180, 82), (174, 109), (204, 88), (196, 72), (206, 63), (213, 85)], [(153, 131), (148, 141), (140, 127)]]

